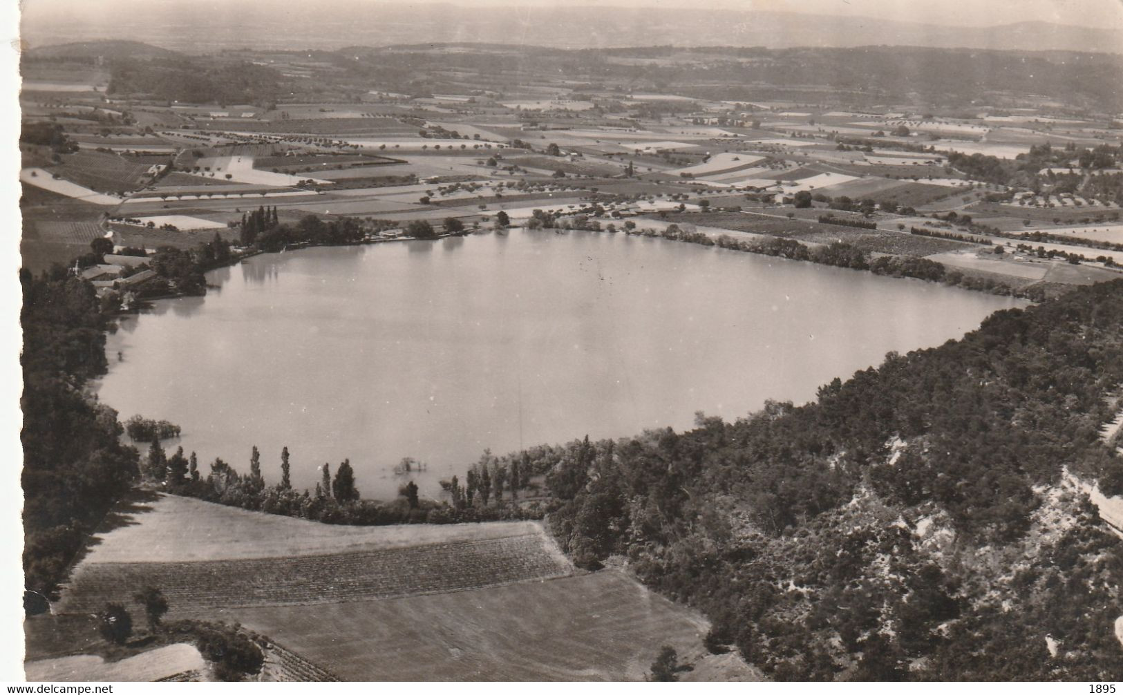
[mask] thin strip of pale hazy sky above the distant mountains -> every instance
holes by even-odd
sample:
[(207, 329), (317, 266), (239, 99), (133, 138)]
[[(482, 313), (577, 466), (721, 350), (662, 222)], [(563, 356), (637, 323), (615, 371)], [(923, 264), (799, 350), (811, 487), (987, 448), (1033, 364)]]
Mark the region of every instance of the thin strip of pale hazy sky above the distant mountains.
[[(213, 0), (211, 0), (213, 1)], [(221, 0), (214, 2), (223, 11), (276, 11), (295, 0)], [(376, 4), (385, 0), (300, 0), (308, 8), (330, 12), (331, 6)], [(1014, 21), (1052, 21), (1099, 28), (1123, 29), (1123, 0), (410, 0), (399, 4), (445, 2), (462, 7), (527, 7), (564, 4), (570, 7), (688, 7), (705, 9), (775, 10), (882, 17), (956, 26), (993, 26)], [(162, 4), (195, 8), (209, 0), (22, 0), (28, 18), (44, 20), (54, 17), (79, 20), (86, 13), (104, 16), (128, 12), (129, 7), (153, 9)]]

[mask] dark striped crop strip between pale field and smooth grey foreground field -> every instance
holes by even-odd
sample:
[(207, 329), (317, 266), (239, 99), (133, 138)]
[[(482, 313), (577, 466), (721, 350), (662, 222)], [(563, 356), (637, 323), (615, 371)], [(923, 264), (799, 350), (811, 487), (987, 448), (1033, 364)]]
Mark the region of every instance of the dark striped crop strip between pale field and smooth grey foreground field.
[(355, 552), (191, 563), (93, 563), (57, 606), (92, 613), (159, 587), (173, 611), (303, 605), (442, 594), (566, 576), (569, 564), (540, 534)]

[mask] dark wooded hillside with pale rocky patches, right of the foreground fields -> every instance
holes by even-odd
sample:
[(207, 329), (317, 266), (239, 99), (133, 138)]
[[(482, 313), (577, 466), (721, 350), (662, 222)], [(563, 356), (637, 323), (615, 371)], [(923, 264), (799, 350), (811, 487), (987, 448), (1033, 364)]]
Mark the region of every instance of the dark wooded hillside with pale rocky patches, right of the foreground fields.
[[(779, 679), (1123, 673), (1123, 548), (1066, 469), (1123, 493), (1097, 437), (1123, 281), (889, 354), (816, 402), (531, 455), (579, 564), (623, 556)], [(1056, 641), (1050, 656), (1046, 637)]]

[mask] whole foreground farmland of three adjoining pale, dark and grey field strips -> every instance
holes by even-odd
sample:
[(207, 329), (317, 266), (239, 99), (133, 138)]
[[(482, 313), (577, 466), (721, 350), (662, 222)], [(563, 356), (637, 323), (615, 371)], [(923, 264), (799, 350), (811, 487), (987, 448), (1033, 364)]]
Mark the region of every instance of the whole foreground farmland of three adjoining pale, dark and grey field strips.
[(270, 678), (633, 679), (661, 644), (704, 656), (704, 619), (620, 570), (575, 570), (537, 522), (331, 527), (159, 495), (110, 525), (58, 620), (143, 613), (135, 587), (157, 586), (170, 618), (274, 641)]

